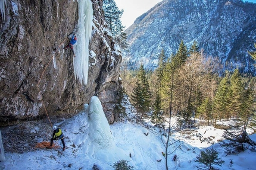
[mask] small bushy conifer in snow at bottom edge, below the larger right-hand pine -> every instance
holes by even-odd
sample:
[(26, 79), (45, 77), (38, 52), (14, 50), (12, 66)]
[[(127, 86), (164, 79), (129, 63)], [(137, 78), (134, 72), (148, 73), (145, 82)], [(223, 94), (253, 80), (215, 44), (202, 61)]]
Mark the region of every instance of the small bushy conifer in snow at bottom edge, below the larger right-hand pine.
[(209, 168), (209, 170), (213, 169), (213, 165), (221, 166), (224, 161), (218, 158), (218, 152), (216, 149), (205, 149), (201, 151), (200, 155), (196, 156), (196, 161), (204, 164)]

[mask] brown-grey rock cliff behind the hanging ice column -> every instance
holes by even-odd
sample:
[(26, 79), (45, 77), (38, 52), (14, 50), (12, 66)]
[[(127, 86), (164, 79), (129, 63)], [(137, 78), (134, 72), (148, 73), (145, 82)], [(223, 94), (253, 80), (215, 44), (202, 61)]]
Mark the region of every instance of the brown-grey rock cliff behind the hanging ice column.
[[(0, 15), (0, 121), (55, 111), (75, 113), (97, 95), (109, 123), (120, 88), (121, 54), (104, 25), (102, 0), (92, 0), (93, 31), (89, 44), (88, 84), (74, 76), (70, 50), (55, 53), (76, 27), (77, 1), (7, 1)], [(55, 53), (54, 68), (52, 54)]]

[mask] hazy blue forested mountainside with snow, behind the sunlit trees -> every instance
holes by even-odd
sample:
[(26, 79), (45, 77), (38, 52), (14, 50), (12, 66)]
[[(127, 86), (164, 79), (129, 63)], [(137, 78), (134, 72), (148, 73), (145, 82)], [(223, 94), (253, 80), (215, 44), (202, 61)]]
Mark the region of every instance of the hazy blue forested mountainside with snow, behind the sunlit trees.
[(126, 30), (130, 52), (123, 56), (129, 68), (143, 63), (155, 69), (158, 56), (175, 54), (180, 41), (194, 40), (209, 56), (218, 56), (225, 69), (239, 67), (255, 73), (247, 50), (256, 42), (256, 4), (241, 0), (163, 0), (138, 17)]

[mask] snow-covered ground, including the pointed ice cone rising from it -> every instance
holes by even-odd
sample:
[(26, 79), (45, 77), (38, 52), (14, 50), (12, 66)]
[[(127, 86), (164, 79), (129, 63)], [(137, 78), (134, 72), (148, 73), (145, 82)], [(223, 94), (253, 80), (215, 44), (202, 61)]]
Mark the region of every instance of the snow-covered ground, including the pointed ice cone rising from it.
[[(150, 122), (141, 126), (128, 120), (109, 126), (97, 97), (92, 97), (80, 114), (59, 126), (65, 135), (67, 149), (64, 152), (60, 148), (38, 149), (23, 154), (5, 153), (6, 161), (0, 162), (0, 169), (92, 169), (93, 164), (99, 169), (113, 169), (111, 165), (121, 159), (129, 161), (128, 164), (134, 169), (166, 169), (161, 153), (165, 152), (163, 142), (166, 138), (161, 137), (159, 130)], [(255, 169), (256, 153), (251, 150), (226, 156), (223, 147), (217, 143), (222, 133), (223, 130), (213, 126), (174, 133), (173, 140), (180, 139), (180, 142), (170, 146), (170, 152), (180, 147), (168, 156), (168, 168), (197, 169), (198, 162), (195, 160), (200, 150), (215, 143), (212, 146), (225, 161), (222, 167), (216, 168)], [(251, 138), (256, 141), (255, 134)], [(202, 139), (209, 140), (201, 142)], [(60, 140), (58, 145), (62, 147)], [(177, 161), (172, 161), (174, 155), (177, 155)], [(231, 160), (233, 163), (230, 163)]]

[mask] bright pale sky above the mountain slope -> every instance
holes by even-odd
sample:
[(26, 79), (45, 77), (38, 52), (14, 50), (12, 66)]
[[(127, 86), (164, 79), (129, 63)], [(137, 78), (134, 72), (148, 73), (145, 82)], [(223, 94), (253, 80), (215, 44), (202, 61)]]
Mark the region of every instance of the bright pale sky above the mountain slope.
[[(117, 7), (120, 10), (124, 9), (121, 21), (126, 29), (133, 24), (136, 18), (144, 14), (146, 11), (148, 11), (161, 1), (163, 0), (115, 0), (115, 4), (117, 4)], [(256, 3), (256, 0), (249, 0), (248, 2)]]

